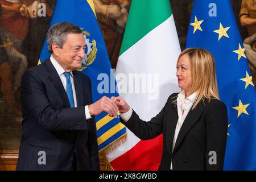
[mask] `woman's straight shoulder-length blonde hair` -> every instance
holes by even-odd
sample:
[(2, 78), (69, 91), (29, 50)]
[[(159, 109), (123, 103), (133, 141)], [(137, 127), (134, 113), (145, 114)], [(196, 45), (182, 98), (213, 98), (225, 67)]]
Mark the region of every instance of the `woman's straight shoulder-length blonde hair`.
[[(191, 85), (189, 92), (197, 92), (195, 103), (192, 109), (194, 109), (201, 100), (217, 99), (218, 86), (217, 77), (215, 71), (215, 61), (212, 53), (203, 48), (187, 48), (182, 51), (177, 59), (177, 63), (181, 56), (187, 54), (191, 65)], [(177, 104), (177, 101), (174, 101)]]

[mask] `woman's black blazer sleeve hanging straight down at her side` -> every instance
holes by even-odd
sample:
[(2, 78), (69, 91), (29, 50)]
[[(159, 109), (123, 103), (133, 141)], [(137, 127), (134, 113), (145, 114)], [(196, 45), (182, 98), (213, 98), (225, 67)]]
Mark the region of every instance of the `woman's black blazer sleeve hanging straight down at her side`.
[(223, 102), (215, 100), (212, 104), (209, 104), (205, 124), (207, 137), (206, 169), (223, 170), (228, 134), (228, 114)]

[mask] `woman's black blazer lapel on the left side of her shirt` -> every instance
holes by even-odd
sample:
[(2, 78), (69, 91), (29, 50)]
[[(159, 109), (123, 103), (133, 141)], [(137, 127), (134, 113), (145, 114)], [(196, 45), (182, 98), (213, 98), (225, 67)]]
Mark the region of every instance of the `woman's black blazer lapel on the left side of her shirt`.
[(172, 154), (172, 143), (174, 142), (174, 133), (177, 125), (177, 119), (178, 119), (178, 114), (177, 114), (177, 106), (174, 104), (171, 104), (171, 111), (170, 114), (167, 116), (167, 148), (168, 152), (171, 155)]

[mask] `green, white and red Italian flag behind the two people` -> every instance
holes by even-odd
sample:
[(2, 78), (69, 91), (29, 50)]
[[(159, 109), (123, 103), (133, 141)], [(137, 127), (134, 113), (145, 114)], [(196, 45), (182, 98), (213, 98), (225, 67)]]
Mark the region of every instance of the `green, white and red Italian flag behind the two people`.
[[(177, 87), (180, 53), (169, 0), (133, 0), (115, 78), (119, 94), (141, 119), (159, 113)], [(125, 88), (127, 86), (127, 88)], [(129, 129), (127, 140), (106, 157), (114, 170), (157, 170), (162, 158), (162, 135), (141, 140)]]

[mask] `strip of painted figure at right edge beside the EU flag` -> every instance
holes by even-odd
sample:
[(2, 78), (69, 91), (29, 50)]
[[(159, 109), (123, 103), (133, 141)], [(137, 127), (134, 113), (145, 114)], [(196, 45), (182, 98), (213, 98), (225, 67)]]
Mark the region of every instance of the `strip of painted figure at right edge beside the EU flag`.
[(240, 11), (240, 22), (246, 26), (249, 38), (245, 39), (244, 46), (249, 62), (251, 75), (253, 76), (254, 85), (256, 85), (256, 0), (242, 0)]

